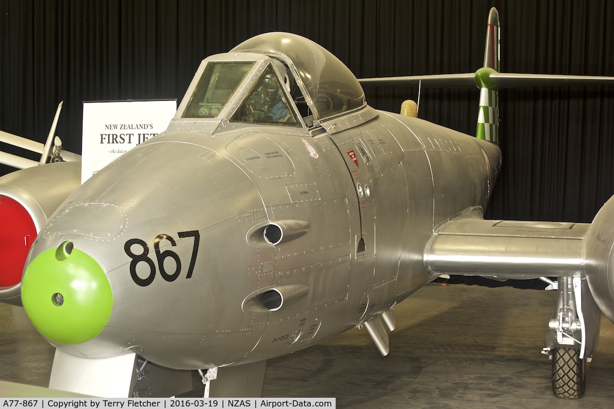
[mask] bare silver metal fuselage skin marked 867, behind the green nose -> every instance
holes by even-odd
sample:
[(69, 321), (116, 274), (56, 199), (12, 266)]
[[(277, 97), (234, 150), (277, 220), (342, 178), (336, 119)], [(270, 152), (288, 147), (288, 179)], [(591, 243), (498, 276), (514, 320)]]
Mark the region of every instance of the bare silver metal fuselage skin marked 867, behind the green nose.
[[(192, 131), (161, 135), (101, 170), (58, 208), (29, 259), (71, 240), (107, 273), (114, 309), (94, 340), (54, 345), (88, 357), (113, 356), (131, 348), (177, 369), (249, 362), (346, 331), (416, 291), (431, 278), (422, 267), (421, 253), (433, 223), (438, 224), (452, 206), (435, 205), (438, 219), (433, 219), (433, 192), (443, 196), (448, 181), (440, 178), (433, 187), (429, 160), (449, 158), (440, 163), (475, 167), (477, 177), (467, 177), (465, 188), (459, 188), (468, 194), (456, 201), (451, 210), (455, 213), (486, 201), (488, 169), (480, 142), (472, 137), (446, 135), (445, 140), (463, 147), (463, 153), (427, 150), (429, 134), (424, 130), (436, 126), (380, 116), (334, 137), (311, 139), (305, 131), (317, 159), (309, 154), (303, 137), (275, 134), (270, 128), (216, 136)], [(407, 132), (412, 128), (419, 137)], [(385, 146), (386, 151), (371, 151), (375, 138), (380, 139), (375, 146)], [(363, 143), (373, 156), (370, 164), (359, 157), (356, 166), (347, 153), (351, 163), (346, 163), (332, 141), (344, 153), (358, 151), (356, 144)], [(486, 148), (496, 157), (494, 145)], [(241, 163), (241, 149), (274, 150), (282, 157), (268, 159), (260, 169)], [(354, 180), (350, 165), (358, 171)], [(443, 175), (446, 169), (433, 166), (433, 172)], [(178, 178), (181, 183), (176, 183)], [(354, 182), (368, 186), (370, 197), (359, 202)], [(305, 221), (308, 232), (276, 246), (251, 242), (254, 227), (287, 219)], [(361, 223), (366, 250), (359, 254)], [(185, 266), (193, 239), (178, 239), (177, 232), (183, 231), (200, 232), (192, 277), (187, 280), (182, 273), (173, 282), (155, 277), (149, 286), (136, 285), (125, 242), (142, 239), (153, 249), (153, 239), (168, 234), (176, 240), (173, 250)], [(169, 243), (160, 250), (168, 247)], [(168, 269), (174, 270), (172, 263)], [(284, 285), (304, 285), (309, 293), (276, 312), (242, 308), (254, 291)], [(290, 335), (297, 331), (303, 334), (289, 345)]]

